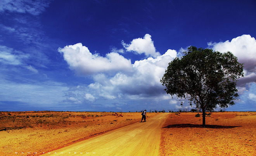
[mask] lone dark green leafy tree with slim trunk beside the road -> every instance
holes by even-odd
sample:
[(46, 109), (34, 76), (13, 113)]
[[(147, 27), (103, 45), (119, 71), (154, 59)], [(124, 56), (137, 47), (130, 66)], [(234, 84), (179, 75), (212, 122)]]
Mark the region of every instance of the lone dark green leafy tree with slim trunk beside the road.
[(205, 125), (205, 111), (235, 104), (239, 96), (236, 83), (244, 76), (243, 65), (230, 52), (190, 46), (184, 54), (169, 63), (160, 82), (167, 94), (187, 98), (191, 106), (194, 103), (201, 109)]

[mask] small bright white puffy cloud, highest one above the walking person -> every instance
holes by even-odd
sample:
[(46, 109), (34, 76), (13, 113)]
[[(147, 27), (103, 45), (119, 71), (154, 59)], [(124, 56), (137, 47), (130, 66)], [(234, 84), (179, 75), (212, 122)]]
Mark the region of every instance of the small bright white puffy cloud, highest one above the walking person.
[(152, 56), (156, 58), (160, 56), (159, 52), (156, 52), (156, 48), (154, 47), (154, 42), (151, 40), (151, 36), (149, 34), (145, 34), (144, 38), (137, 38), (131, 41), (131, 44), (126, 44), (122, 41), (123, 46), (126, 51), (135, 52), (138, 54), (145, 54), (146, 56)]

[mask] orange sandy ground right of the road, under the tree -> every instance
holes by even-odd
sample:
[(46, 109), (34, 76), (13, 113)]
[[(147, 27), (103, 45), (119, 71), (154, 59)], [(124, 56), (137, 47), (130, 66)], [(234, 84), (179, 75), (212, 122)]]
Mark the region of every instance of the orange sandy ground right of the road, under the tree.
[[(256, 156), (256, 112), (172, 113), (162, 128), (162, 156)], [(202, 115), (201, 115), (202, 116)]]

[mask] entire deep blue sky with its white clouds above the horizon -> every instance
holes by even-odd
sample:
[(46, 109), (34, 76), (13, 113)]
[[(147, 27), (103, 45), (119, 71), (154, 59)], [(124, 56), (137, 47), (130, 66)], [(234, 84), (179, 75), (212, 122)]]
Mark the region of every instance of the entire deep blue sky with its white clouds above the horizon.
[(245, 77), (225, 110), (256, 111), (255, 8), (255, 0), (1, 0), (0, 111), (190, 110), (160, 83), (189, 46), (237, 56)]

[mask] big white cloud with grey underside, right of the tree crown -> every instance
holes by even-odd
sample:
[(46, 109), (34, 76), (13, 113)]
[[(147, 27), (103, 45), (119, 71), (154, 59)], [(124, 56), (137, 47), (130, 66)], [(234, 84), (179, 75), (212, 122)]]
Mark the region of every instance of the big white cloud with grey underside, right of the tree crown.
[(256, 40), (250, 35), (238, 36), (231, 41), (210, 42), (208, 46), (216, 51), (225, 53), (230, 51), (237, 56), (238, 61), (244, 64), (245, 77), (240, 78), (238, 85), (245, 86), (246, 83), (256, 83)]

